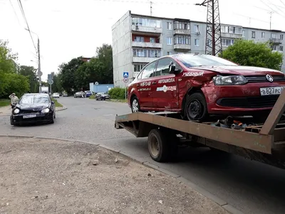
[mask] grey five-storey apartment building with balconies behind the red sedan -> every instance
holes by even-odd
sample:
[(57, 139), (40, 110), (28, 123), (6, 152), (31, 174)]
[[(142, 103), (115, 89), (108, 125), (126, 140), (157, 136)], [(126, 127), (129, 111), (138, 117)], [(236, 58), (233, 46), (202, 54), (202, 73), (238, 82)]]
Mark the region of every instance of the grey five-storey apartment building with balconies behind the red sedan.
[[(207, 23), (182, 18), (162, 18), (132, 14), (128, 11), (112, 27), (113, 73), (115, 87), (125, 87), (152, 60), (175, 53), (204, 53)], [(237, 39), (270, 41), (272, 50), (283, 52), (282, 31), (243, 28), (221, 24), (222, 48)], [(207, 41), (209, 43), (210, 41)], [(284, 67), (283, 67), (284, 66)], [(285, 71), (285, 65), (281, 70)]]

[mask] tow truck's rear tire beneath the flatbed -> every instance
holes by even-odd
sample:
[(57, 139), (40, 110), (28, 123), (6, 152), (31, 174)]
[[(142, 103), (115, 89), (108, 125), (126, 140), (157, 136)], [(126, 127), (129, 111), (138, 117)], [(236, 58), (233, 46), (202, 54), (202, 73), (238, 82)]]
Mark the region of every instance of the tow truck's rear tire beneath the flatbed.
[(176, 154), (177, 145), (167, 132), (162, 129), (152, 129), (148, 134), (147, 144), (150, 156), (154, 161), (165, 162), (172, 159), (172, 154)]

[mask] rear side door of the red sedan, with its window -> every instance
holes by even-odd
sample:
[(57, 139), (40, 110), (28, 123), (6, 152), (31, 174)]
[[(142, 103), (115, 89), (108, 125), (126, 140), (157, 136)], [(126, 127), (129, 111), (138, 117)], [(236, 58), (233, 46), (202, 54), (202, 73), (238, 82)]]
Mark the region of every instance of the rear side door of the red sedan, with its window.
[(150, 63), (149, 65), (145, 66), (142, 70), (142, 75), (140, 76), (140, 80), (137, 82), (137, 90), (139, 94), (139, 102), (140, 108), (151, 108), (153, 107), (153, 81), (155, 80), (154, 77), (154, 70), (157, 61)]

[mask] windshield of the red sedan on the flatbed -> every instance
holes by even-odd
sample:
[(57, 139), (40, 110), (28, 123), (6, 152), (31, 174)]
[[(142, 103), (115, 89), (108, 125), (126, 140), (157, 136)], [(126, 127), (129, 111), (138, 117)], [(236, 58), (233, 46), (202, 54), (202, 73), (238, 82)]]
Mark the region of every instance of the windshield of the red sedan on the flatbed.
[(228, 60), (224, 60), (214, 55), (200, 55), (200, 54), (181, 54), (174, 55), (173, 58), (179, 60), (187, 68), (198, 66), (224, 66), (224, 65), (237, 65)]

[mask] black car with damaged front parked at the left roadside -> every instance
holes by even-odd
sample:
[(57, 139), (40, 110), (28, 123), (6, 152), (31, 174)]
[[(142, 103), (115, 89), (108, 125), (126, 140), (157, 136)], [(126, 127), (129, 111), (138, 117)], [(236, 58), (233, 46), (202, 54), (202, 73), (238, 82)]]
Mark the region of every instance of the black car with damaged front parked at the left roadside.
[(11, 125), (36, 122), (53, 123), (56, 118), (56, 107), (48, 94), (26, 94), (12, 109)]

